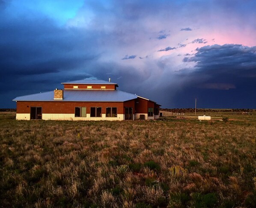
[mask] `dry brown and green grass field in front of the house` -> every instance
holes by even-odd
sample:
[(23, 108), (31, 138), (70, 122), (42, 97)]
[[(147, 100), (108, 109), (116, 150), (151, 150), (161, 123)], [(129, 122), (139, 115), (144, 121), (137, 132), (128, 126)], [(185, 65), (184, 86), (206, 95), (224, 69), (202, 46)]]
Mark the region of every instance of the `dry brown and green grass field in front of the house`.
[(0, 113), (0, 206), (256, 207), (255, 115), (222, 116), (17, 121)]

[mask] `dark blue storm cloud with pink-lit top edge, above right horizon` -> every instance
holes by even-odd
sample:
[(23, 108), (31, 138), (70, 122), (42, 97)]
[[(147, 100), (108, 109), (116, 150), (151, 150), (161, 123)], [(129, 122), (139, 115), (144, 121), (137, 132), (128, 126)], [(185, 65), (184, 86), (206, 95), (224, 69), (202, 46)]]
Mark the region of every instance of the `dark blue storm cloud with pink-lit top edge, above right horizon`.
[[(195, 97), (208, 97), (214, 103), (214, 97), (209, 97), (209, 90), (217, 90), (219, 103), (232, 105), (233, 97), (238, 96), (233, 105), (242, 107), (244, 100), (253, 107), (256, 101), (256, 47), (241, 44), (224, 44), (204, 46), (196, 49), (193, 57), (185, 57), (183, 62), (196, 63), (192, 72), (185, 70), (180, 75), (187, 76), (185, 91)], [(186, 72), (187, 71), (187, 72)], [(223, 92), (221, 92), (223, 91)], [(241, 94), (241, 92), (243, 93)], [(199, 92), (199, 94), (198, 94)], [(216, 96), (215, 96), (216, 98)], [(216, 102), (216, 101), (215, 101)]]

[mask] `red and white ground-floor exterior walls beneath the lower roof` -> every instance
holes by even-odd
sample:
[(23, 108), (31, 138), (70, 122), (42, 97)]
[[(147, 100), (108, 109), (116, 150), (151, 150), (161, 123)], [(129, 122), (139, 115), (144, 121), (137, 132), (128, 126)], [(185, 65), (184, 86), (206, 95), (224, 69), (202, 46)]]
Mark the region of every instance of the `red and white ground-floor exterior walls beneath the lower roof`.
[[(148, 108), (154, 108), (154, 103), (145, 99), (135, 99), (125, 102), (65, 102), (60, 100), (17, 101), (17, 120), (30, 120), (30, 107), (42, 107), (43, 120), (125, 120), (125, 108), (133, 109), (133, 119), (156, 119), (159, 115), (148, 117)], [(75, 107), (86, 107), (86, 117), (74, 117)], [(101, 107), (101, 117), (90, 117), (90, 107)], [(116, 107), (117, 117), (106, 117), (106, 108)]]

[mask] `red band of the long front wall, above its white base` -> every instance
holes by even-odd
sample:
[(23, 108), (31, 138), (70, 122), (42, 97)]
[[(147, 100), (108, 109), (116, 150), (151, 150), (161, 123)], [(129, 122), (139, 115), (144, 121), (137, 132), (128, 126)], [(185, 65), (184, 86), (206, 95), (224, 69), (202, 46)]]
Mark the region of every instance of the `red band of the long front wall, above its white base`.
[[(134, 102), (132, 100), (132, 102)], [(125, 104), (131, 105), (132, 102)], [(125, 102), (127, 103), (127, 102)], [(75, 107), (86, 107), (86, 113), (90, 113), (90, 107), (101, 107), (101, 113), (106, 113), (106, 107), (117, 107), (117, 114), (124, 114), (124, 103), (122, 102), (63, 102), (63, 101), (50, 101), (50, 102), (29, 102), (17, 101), (17, 113), (30, 113), (30, 107), (42, 107), (42, 113), (56, 113), (56, 114), (73, 114)]]

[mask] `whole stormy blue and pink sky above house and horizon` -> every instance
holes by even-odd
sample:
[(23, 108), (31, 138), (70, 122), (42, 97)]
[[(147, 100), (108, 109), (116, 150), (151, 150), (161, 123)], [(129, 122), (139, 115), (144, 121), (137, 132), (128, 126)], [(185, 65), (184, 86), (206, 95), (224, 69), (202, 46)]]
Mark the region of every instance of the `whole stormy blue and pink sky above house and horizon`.
[(111, 78), (163, 108), (256, 108), (255, 0), (0, 0), (0, 108)]

